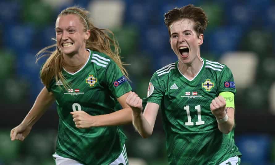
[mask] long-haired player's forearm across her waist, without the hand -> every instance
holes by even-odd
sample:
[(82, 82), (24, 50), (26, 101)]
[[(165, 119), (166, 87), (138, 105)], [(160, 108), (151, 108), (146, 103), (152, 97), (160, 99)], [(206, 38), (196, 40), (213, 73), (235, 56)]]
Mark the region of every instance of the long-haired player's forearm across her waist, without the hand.
[(93, 116), (97, 118), (96, 126), (114, 126), (131, 123), (132, 121), (131, 108), (123, 108), (119, 111), (109, 114)]

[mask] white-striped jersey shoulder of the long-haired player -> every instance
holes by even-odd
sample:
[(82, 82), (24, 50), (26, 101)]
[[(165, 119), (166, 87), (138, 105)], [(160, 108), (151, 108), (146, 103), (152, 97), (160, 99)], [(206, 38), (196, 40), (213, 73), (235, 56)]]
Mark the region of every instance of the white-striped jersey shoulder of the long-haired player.
[(113, 63), (113, 60), (108, 55), (95, 51), (91, 51), (90, 60), (91, 63), (99, 68), (106, 68), (109, 64)]

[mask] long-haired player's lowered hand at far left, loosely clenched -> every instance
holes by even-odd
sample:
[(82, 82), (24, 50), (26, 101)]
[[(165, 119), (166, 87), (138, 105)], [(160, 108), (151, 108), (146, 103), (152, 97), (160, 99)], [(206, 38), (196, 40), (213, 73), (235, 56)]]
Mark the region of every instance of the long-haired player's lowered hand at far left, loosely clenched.
[(23, 141), (30, 133), (32, 127), (27, 126), (23, 123), (19, 124), (17, 127), (11, 130), (11, 141), (21, 140)]

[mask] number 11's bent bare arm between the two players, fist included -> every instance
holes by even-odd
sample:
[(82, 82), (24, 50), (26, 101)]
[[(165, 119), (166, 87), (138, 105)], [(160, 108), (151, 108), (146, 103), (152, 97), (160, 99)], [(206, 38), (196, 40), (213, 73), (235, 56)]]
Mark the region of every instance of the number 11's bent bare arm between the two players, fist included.
[(142, 114), (142, 99), (135, 92), (132, 92), (127, 100), (127, 104), (132, 108), (133, 125), (138, 133), (147, 138), (153, 133), (156, 117), (159, 111), (159, 105), (147, 103)]

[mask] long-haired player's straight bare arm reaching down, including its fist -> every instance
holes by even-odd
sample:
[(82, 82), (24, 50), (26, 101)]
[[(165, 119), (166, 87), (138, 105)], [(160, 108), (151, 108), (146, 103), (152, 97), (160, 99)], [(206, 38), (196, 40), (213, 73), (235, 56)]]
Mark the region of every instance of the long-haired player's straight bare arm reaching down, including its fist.
[(31, 110), (23, 119), (21, 124), (11, 130), (11, 140), (23, 141), (29, 134), (32, 126), (40, 119), (47, 108), (54, 102), (55, 98), (52, 92), (44, 87), (37, 96)]

